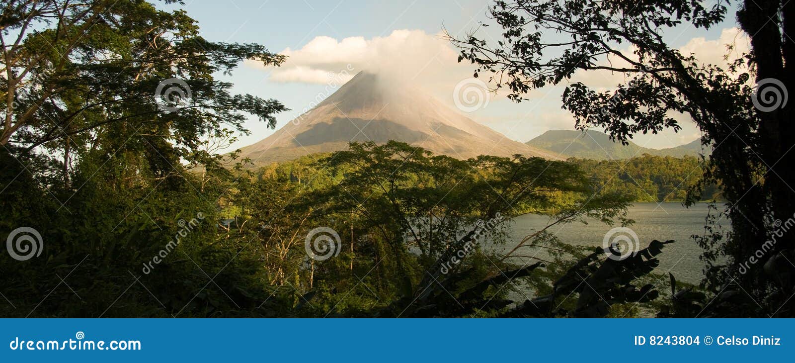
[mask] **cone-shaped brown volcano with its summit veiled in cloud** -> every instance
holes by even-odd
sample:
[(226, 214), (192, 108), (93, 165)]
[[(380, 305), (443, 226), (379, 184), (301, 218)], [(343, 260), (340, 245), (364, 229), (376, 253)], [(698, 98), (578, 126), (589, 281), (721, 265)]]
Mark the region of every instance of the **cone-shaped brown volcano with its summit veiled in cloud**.
[(417, 88), (359, 72), (331, 96), (266, 139), (241, 149), (255, 165), (305, 154), (346, 150), (348, 143), (389, 140), (453, 158), (481, 154), (558, 159), (556, 154), (506, 138), (444, 106)]

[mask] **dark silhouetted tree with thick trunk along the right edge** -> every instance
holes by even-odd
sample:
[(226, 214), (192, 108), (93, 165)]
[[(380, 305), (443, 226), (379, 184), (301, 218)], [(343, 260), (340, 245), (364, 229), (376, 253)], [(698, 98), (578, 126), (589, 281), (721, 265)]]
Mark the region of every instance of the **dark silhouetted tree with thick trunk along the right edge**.
[[(490, 44), (476, 33), (450, 39), (461, 48), (460, 61), (476, 64), (475, 76), (487, 72), (497, 88), (506, 87), (517, 101), (534, 88), (568, 82), (581, 70), (625, 75), (628, 81), (614, 92), (595, 92), (579, 82), (566, 86), (563, 107), (580, 129), (603, 127), (611, 138), (626, 142), (638, 132), (677, 131), (672, 113), (689, 115), (704, 132), (702, 143), (715, 145), (700, 185), (723, 186), (729, 207), (725, 214), (732, 224), (731, 232), (700, 240), (707, 283), (715, 291), (738, 290), (738, 283), (761, 302), (758, 314), (766, 315), (793, 292), (792, 280), (771, 279), (765, 270), (793, 272), (781, 262), (793, 256), (795, 236), (785, 234), (772, 248), (764, 244), (772, 238), (774, 221), (789, 220), (795, 212), (795, 191), (789, 186), (795, 185), (795, 174), (788, 167), (795, 161), (789, 154), (795, 144), (783, 137), (793, 131), (792, 103), (785, 97), (795, 74), (795, 44), (786, 36), (787, 30), (792, 33), (795, 4), (742, 2), (737, 18), (752, 48), (730, 67), (703, 64), (665, 41), (665, 33), (680, 25), (709, 29), (719, 24), (728, 5), (719, 1), (710, 7), (692, 0), (497, 1), (491, 16), (502, 26), (500, 41)], [(701, 194), (699, 187), (691, 192), (691, 202)], [(757, 268), (739, 273), (739, 263), (762, 249), (764, 256), (755, 257), (761, 260)], [(763, 269), (766, 261), (775, 261), (775, 266)]]

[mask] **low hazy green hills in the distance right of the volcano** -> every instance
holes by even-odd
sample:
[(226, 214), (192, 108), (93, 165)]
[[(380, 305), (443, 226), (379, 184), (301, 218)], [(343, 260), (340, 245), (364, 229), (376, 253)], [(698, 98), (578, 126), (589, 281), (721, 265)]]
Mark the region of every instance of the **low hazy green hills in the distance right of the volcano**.
[(622, 145), (620, 142), (611, 141), (607, 134), (594, 130), (588, 130), (585, 133), (572, 130), (550, 130), (525, 143), (541, 150), (560, 154), (563, 158), (575, 157), (594, 160), (632, 158), (642, 154), (681, 158), (684, 155), (698, 156), (701, 152), (701, 142), (698, 139), (685, 145), (657, 150), (638, 146), (631, 141), (629, 145)]

